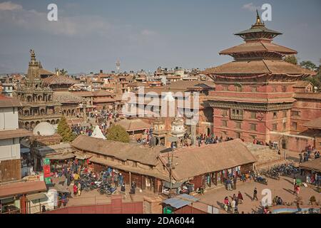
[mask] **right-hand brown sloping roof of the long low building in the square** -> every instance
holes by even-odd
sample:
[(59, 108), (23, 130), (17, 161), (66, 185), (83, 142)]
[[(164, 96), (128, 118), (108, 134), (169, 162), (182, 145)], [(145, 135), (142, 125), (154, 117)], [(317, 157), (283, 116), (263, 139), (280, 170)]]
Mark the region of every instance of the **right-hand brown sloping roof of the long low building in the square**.
[[(176, 150), (173, 156), (173, 177), (178, 182), (257, 161), (240, 139)], [(166, 165), (168, 155), (160, 155), (160, 160)]]

